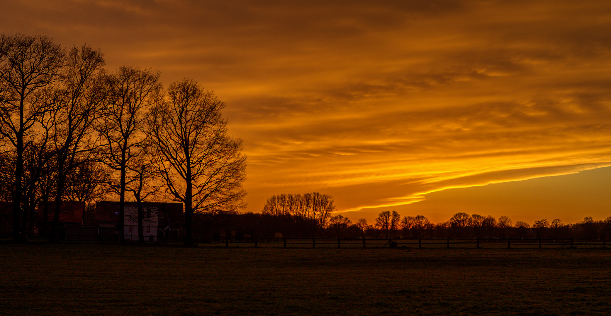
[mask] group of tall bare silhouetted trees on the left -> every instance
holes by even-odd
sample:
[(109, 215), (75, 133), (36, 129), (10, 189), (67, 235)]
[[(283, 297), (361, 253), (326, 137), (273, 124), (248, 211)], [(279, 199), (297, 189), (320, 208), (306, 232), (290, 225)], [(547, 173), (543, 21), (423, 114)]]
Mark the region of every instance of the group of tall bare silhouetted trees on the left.
[(127, 200), (139, 205), (144, 240), (140, 203), (161, 192), (185, 204), (191, 245), (194, 213), (244, 207), (246, 156), (241, 140), (227, 136), (225, 104), (192, 79), (164, 90), (159, 72), (109, 73), (104, 65), (103, 53), (87, 45), (65, 51), (43, 35), (2, 34), (0, 199), (13, 202), (13, 237), (25, 241), (40, 201), (60, 210), (62, 200), (92, 203), (114, 193), (120, 240)]

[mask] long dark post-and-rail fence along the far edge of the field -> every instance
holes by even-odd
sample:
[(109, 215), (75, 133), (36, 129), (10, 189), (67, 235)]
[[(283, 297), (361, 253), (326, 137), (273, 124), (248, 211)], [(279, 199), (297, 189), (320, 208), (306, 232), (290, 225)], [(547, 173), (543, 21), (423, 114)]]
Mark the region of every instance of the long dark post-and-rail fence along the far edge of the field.
[[(66, 240), (113, 240), (115, 235), (67, 234)], [(116, 235), (118, 237), (118, 235)], [(109, 237), (113, 237), (109, 239)], [(137, 235), (125, 235), (128, 241)], [(144, 236), (147, 242), (182, 243), (184, 237)], [(609, 240), (584, 239), (386, 239), (386, 238), (290, 238), (195, 236), (199, 246), (282, 248), (607, 248)]]

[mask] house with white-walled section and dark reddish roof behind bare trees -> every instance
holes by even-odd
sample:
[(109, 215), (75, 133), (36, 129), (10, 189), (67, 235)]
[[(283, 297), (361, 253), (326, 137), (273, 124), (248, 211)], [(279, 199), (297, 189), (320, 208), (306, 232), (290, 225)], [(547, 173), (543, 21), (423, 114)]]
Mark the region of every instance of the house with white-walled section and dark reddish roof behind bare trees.
[[(158, 236), (182, 237), (185, 215), (182, 203), (142, 202), (145, 240), (158, 240)], [(126, 240), (138, 240), (138, 209), (136, 202), (126, 202), (123, 212), (123, 234)], [(111, 239), (110, 228), (119, 225), (119, 202), (100, 201), (95, 206), (95, 221), (100, 226), (100, 239)], [(104, 233), (103, 233), (104, 232)], [(114, 236), (113, 236), (114, 237)]]

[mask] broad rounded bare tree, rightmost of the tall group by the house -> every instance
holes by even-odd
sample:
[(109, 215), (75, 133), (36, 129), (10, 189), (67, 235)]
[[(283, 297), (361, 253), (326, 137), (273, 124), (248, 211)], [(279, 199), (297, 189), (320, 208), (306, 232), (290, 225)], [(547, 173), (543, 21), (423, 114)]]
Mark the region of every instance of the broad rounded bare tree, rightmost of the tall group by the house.
[(196, 81), (170, 84), (168, 99), (152, 110), (148, 132), (166, 190), (185, 203), (185, 245), (193, 245), (193, 214), (235, 212), (246, 206), (242, 140), (227, 135), (225, 103)]

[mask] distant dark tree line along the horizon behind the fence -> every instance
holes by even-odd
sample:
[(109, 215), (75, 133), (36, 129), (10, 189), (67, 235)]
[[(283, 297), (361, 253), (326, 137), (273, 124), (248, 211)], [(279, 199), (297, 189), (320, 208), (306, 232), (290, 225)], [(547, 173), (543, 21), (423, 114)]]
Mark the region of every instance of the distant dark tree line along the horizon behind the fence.
[[(315, 193), (312, 193), (312, 195)], [(316, 193), (317, 194), (317, 193)], [(497, 220), (491, 215), (454, 214), (443, 223), (431, 223), (423, 215), (406, 216), (396, 211), (381, 212), (375, 223), (364, 218), (356, 223), (342, 214), (327, 212), (320, 221), (300, 207), (309, 205), (305, 195), (276, 195), (269, 198), (261, 213), (232, 214), (216, 226), (200, 229), (199, 235), (228, 237), (324, 237), (324, 238), (480, 238), (480, 239), (611, 239), (611, 217), (592, 217), (573, 224), (555, 219), (537, 220), (532, 226), (524, 221), (512, 223), (507, 216)], [(307, 198), (306, 198), (307, 199)], [(327, 196), (326, 201), (333, 201)], [(329, 205), (329, 204), (327, 204)], [(335, 209), (334, 206), (327, 207)], [(311, 211), (310, 211), (311, 212)]]

